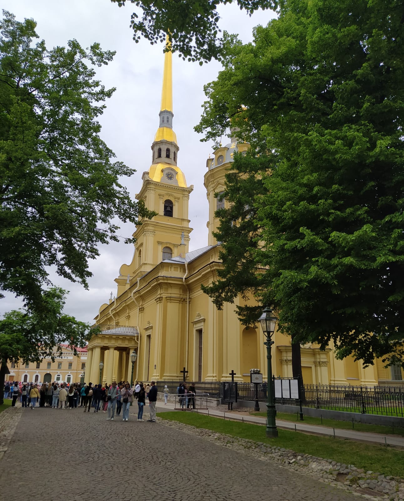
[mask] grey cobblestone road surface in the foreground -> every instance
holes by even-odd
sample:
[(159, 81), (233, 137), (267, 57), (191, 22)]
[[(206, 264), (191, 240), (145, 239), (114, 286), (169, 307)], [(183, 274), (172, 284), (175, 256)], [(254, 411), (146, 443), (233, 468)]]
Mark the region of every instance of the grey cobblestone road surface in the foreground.
[(128, 422), (116, 416), (107, 421), (102, 412), (83, 413), (80, 408), (22, 409), (0, 461), (0, 499), (363, 499), (313, 477), (159, 422), (138, 422), (135, 417), (134, 407)]

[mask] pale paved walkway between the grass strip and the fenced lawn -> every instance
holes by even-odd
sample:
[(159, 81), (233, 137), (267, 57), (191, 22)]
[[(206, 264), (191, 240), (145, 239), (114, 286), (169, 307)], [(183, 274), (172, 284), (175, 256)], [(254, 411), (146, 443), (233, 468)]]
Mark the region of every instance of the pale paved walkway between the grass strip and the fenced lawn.
[[(164, 403), (157, 402), (158, 405), (162, 405), (164, 407)], [(169, 409), (174, 408), (174, 404), (167, 403), (165, 408), (169, 407)], [(234, 419), (235, 421), (244, 421), (245, 423), (258, 423), (265, 424), (266, 420), (264, 417), (260, 416), (251, 416), (250, 414), (243, 414), (240, 412), (219, 412), (217, 410), (209, 409), (207, 410), (198, 410), (201, 414), (209, 414), (210, 416), (217, 417), (225, 417)], [(297, 423), (290, 421), (282, 421), (280, 419), (276, 419), (276, 426), (279, 428), (294, 430), (294, 425), (296, 424), (297, 431), (305, 431), (308, 433), (314, 433), (318, 435), (329, 435), (333, 436), (335, 432), (335, 436), (339, 438), (350, 438), (352, 440), (358, 440), (363, 442), (371, 442), (371, 443), (379, 443), (382, 445), (395, 445), (399, 447), (404, 447), (404, 437), (399, 435), (382, 435), (379, 433), (367, 433), (363, 431), (355, 431), (355, 430), (341, 430), (338, 428), (327, 428), (326, 426), (318, 426), (315, 424), (304, 424), (304, 421), (299, 421)]]

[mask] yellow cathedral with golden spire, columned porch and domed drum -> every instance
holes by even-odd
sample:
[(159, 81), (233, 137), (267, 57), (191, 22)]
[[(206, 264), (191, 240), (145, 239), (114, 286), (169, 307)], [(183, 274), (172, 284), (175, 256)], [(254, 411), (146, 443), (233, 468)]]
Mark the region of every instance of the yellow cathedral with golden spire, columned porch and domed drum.
[[(225, 304), (218, 311), (200, 289), (216, 280), (220, 267), (220, 245), (212, 231), (218, 225), (214, 212), (225, 202), (214, 194), (224, 189), (233, 153), (249, 145), (234, 139), (206, 161), (208, 241), (189, 252), (188, 203), (193, 186), (187, 186), (177, 165), (173, 116), (172, 55), (166, 52), (152, 163), (135, 195), (157, 215), (143, 219), (136, 228), (132, 261), (120, 267), (115, 279), (116, 297), (111, 295), (94, 319), (101, 333), (88, 343), (86, 382), (131, 381), (132, 369), (134, 380), (182, 380), (184, 367), (187, 381), (227, 381), (232, 370), (236, 381), (249, 381), (252, 368), (260, 369), (266, 379), (261, 329), (245, 329), (234, 313), (235, 305)], [(291, 377), (290, 338), (275, 332), (273, 339), (273, 374)], [(132, 367), (133, 351), (137, 358)], [(337, 360), (332, 346), (325, 351), (314, 344), (301, 346), (301, 364), (306, 384), (394, 385), (403, 376), (399, 366), (386, 369), (378, 360), (365, 369), (351, 357)]]

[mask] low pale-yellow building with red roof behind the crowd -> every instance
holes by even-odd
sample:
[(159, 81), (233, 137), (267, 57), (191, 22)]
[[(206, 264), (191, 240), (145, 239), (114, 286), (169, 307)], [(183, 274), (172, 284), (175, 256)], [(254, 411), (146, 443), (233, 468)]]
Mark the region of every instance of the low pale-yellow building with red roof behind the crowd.
[(77, 383), (83, 377), (87, 361), (86, 348), (76, 348), (77, 355), (73, 354), (67, 345), (61, 345), (62, 353), (55, 353), (54, 362), (51, 358), (44, 358), (40, 362), (8, 363), (9, 374), (6, 381), (22, 381), (23, 383)]

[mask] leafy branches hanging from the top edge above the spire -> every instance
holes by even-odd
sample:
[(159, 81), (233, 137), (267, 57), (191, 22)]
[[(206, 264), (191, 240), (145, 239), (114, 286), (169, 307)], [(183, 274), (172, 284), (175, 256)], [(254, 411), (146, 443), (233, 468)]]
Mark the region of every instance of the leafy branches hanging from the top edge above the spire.
[[(219, 38), (218, 5), (237, 3), (250, 16), (258, 9), (276, 9), (277, 0), (129, 0), (142, 11), (142, 18), (136, 12), (131, 15), (130, 27), (133, 40), (138, 43), (144, 37), (151, 44), (164, 42), (169, 33), (171, 51), (179, 52), (183, 59), (208, 62), (212, 58), (221, 60), (222, 40)], [(126, 0), (111, 0), (119, 7)]]

